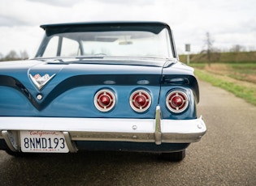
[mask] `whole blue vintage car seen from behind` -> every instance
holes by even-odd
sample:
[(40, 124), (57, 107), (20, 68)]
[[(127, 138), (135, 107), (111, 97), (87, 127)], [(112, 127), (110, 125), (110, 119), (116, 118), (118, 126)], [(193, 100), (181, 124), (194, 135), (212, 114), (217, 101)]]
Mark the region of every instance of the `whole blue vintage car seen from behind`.
[(197, 79), (167, 23), (41, 28), (35, 57), (0, 62), (0, 150), (128, 150), (180, 161), (206, 133)]

